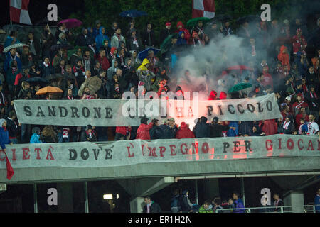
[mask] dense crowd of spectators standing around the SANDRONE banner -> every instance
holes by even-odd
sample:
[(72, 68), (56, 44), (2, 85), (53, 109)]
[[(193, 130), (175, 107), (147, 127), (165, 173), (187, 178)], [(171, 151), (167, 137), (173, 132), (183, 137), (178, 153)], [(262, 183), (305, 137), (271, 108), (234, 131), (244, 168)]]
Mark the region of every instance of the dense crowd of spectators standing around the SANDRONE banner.
[[(17, 32), (10, 31), (4, 48), (15, 43), (28, 46), (11, 48), (1, 54), (4, 59), (0, 78), (1, 147), (5, 148), (8, 143), (263, 136), (277, 133), (319, 135), (320, 138), (317, 123), (319, 40), (313, 39), (312, 44), (307, 42), (310, 34), (316, 31), (311, 31), (311, 26), (302, 19), (277, 21), (274, 18), (270, 22), (257, 21), (253, 27), (242, 21), (237, 31), (230, 26), (230, 19), (209, 23), (198, 21), (191, 29), (181, 21), (174, 29), (168, 21), (159, 37), (154, 35), (151, 23), (146, 23), (145, 28), (136, 28), (134, 21), (130, 22), (129, 28), (119, 28), (117, 22), (109, 27), (96, 21), (92, 27), (82, 28), (79, 35), (68, 30), (64, 23), (55, 33), (46, 25), (40, 40), (32, 32), (26, 34), (24, 40), (18, 40)], [(314, 23), (319, 29), (319, 20)], [(124, 92), (143, 96), (149, 91), (160, 95), (170, 90), (183, 99), (179, 84), (174, 89), (169, 86), (179, 55), (188, 50), (207, 48), (210, 43), (233, 36), (243, 38), (242, 45), (250, 52), (250, 57), (242, 59), (242, 65), (247, 65), (251, 70), (246, 71), (247, 74), (239, 70), (228, 75), (233, 79), (224, 77), (229, 78), (228, 81), (213, 78), (217, 89), (203, 89), (208, 91), (206, 99), (241, 99), (274, 92), (281, 118), (222, 122), (215, 117), (208, 122), (203, 116), (195, 119), (193, 128), (185, 122), (178, 126), (172, 117), (164, 121), (142, 118), (139, 127), (104, 127), (90, 123), (85, 124), (86, 127), (37, 126), (21, 124), (16, 118), (14, 101), (17, 99), (65, 99), (71, 103), (75, 99), (122, 99)], [(155, 55), (160, 43), (160, 51)], [(146, 49), (149, 49), (146, 57), (139, 59), (139, 52)], [(268, 52), (268, 57), (261, 55), (260, 50)], [(235, 65), (225, 57), (218, 61), (226, 67)], [(188, 79), (190, 72), (185, 70), (184, 75)], [(223, 75), (225, 72), (221, 70), (217, 74)], [(250, 83), (252, 87), (230, 93), (230, 87), (240, 82)], [(36, 95), (47, 85), (58, 87), (63, 92)]]

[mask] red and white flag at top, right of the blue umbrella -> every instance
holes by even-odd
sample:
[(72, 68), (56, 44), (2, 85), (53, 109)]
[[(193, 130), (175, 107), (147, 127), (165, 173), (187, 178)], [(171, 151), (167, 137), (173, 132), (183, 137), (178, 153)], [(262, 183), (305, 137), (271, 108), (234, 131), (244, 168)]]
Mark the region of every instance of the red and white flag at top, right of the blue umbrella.
[(192, 18), (215, 17), (215, 0), (193, 0)]

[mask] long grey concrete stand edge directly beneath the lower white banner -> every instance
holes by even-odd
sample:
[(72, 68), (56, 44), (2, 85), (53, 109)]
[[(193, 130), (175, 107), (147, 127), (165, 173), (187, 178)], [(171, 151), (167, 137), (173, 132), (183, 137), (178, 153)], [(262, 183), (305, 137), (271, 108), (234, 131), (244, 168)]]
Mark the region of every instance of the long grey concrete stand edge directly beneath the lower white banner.
[(0, 183), (22, 184), (31, 182), (75, 182), (90, 179), (126, 179), (132, 177), (319, 171), (319, 163), (320, 157), (279, 157), (252, 160), (145, 163), (122, 167), (26, 168), (14, 169), (14, 177), (10, 181), (6, 179), (6, 169), (1, 169)]

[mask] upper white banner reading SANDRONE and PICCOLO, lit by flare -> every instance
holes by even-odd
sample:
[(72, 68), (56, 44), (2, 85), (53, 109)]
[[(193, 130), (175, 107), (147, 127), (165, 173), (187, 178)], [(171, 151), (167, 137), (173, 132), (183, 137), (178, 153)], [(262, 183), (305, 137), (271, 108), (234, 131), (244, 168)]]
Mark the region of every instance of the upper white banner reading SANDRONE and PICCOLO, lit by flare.
[(193, 126), (196, 118), (208, 121), (260, 121), (280, 118), (274, 94), (253, 99), (214, 101), (164, 99), (15, 100), (19, 123), (55, 126), (139, 126), (140, 118), (174, 117)]

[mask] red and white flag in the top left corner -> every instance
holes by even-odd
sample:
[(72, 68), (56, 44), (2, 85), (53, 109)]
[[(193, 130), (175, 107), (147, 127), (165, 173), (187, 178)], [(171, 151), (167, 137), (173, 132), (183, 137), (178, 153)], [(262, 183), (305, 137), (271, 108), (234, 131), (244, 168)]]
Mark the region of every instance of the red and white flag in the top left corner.
[(32, 25), (28, 4), (30, 0), (10, 0), (10, 20), (16, 23)]

